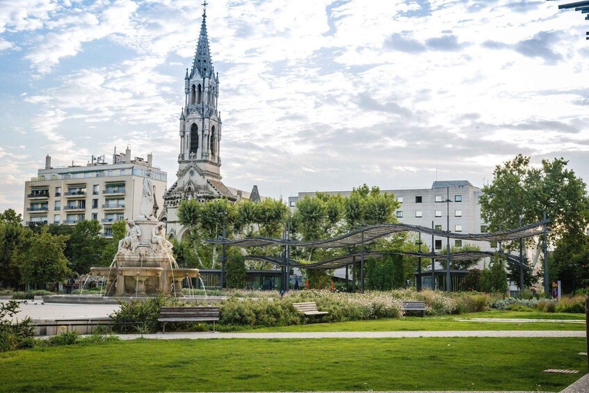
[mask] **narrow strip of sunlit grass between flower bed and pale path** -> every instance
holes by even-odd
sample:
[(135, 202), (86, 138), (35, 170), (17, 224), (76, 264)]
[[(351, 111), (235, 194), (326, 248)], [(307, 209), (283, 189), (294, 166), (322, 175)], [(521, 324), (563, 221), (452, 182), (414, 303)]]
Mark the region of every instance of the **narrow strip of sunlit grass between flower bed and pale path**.
[[(331, 323), (309, 323), (308, 325), (280, 326), (276, 328), (254, 328), (242, 332), (396, 332), (404, 330), (585, 330), (584, 323), (554, 322), (476, 322), (455, 321), (455, 318), (490, 318), (485, 314), (464, 314), (458, 316), (408, 316), (402, 319), (375, 319), (371, 321), (348, 321)], [(497, 316), (503, 318), (503, 316)], [(517, 316), (515, 318), (522, 318)], [(557, 318), (558, 319), (558, 318)]]

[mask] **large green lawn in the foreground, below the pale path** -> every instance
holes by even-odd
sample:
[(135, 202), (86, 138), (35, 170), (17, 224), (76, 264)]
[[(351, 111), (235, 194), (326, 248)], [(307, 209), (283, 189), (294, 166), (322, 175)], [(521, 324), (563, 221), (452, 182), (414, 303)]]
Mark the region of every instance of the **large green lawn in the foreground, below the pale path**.
[[(0, 354), (0, 390), (559, 391), (584, 339), (134, 340)], [(577, 376), (546, 374), (578, 369)]]

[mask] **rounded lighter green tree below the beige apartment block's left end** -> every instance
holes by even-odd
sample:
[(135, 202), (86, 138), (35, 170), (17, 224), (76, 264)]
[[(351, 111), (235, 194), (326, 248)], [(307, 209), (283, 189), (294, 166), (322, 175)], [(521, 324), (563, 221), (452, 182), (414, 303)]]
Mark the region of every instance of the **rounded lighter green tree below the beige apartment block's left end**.
[(38, 286), (67, 278), (65, 241), (67, 236), (49, 234), (47, 228), (29, 236), (17, 257), (22, 282)]

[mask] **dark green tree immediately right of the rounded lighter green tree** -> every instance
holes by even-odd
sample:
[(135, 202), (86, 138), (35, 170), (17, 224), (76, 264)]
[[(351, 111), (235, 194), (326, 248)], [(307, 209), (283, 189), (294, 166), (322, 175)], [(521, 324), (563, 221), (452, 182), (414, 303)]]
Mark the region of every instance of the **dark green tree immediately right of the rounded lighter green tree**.
[(100, 236), (100, 230), (97, 220), (82, 220), (74, 227), (65, 250), (74, 273), (86, 274), (92, 266), (102, 266), (106, 239)]

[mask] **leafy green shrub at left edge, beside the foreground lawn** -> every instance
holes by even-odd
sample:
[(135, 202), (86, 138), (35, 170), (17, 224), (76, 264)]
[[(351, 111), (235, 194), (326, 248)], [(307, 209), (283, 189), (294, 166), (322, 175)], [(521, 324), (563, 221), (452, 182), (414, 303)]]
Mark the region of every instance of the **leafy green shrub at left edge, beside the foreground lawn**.
[(19, 303), (9, 300), (0, 303), (0, 352), (29, 348), (34, 335), (31, 319), (27, 316), (15, 323), (11, 321), (19, 311)]

